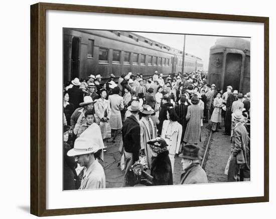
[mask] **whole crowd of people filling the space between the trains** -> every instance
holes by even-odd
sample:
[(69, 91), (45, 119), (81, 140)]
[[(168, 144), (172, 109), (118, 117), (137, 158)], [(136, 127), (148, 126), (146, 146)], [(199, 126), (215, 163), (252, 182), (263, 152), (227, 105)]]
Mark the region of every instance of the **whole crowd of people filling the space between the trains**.
[[(232, 142), (227, 163), (228, 181), (250, 179), (250, 93), (223, 92), (207, 84), (203, 71), (174, 73), (166, 77), (155, 71), (75, 78), (64, 86), (64, 190), (104, 188), (104, 152), (107, 141), (118, 150), (122, 186), (130, 186), (129, 171), (145, 161), (147, 185), (173, 184), (175, 156), (182, 157), (180, 184), (207, 183), (201, 167), (199, 142), (203, 123), (212, 132), (225, 131)], [(145, 158), (145, 159), (144, 159)]]

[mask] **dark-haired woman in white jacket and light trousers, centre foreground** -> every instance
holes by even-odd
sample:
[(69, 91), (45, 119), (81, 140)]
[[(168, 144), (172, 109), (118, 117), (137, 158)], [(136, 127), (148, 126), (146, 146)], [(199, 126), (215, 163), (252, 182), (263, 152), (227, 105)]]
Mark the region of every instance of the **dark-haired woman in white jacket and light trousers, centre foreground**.
[(161, 137), (168, 144), (172, 172), (174, 172), (175, 154), (178, 154), (180, 151), (182, 126), (178, 123), (179, 118), (173, 107), (167, 108), (167, 118), (168, 120), (163, 122)]

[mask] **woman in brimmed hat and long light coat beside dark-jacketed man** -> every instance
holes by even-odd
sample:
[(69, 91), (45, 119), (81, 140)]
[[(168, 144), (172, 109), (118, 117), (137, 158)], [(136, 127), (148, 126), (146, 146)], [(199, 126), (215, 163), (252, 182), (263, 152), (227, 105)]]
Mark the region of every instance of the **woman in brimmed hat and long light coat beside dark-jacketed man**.
[(154, 113), (154, 110), (149, 106), (145, 105), (142, 110), (140, 110), (142, 118), (139, 121), (141, 127), (141, 150), (147, 156), (147, 161), (149, 165), (149, 169), (152, 168), (152, 151), (151, 147), (147, 142), (153, 138), (157, 137), (157, 129), (154, 125), (153, 120), (151, 119), (151, 114)]

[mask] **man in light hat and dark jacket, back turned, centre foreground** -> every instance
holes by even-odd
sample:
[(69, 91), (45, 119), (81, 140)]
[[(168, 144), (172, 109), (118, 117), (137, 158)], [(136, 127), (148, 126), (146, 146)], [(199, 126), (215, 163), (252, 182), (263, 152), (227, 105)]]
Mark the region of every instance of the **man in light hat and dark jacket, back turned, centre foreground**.
[(131, 112), (131, 115), (127, 117), (122, 126), (122, 141), (124, 148), (125, 162), (125, 174), (123, 187), (127, 186), (127, 171), (135, 161), (139, 160), (139, 154), (141, 149), (141, 127), (139, 123), (139, 111), (142, 107), (139, 101), (132, 101), (131, 105), (127, 107), (127, 110)]

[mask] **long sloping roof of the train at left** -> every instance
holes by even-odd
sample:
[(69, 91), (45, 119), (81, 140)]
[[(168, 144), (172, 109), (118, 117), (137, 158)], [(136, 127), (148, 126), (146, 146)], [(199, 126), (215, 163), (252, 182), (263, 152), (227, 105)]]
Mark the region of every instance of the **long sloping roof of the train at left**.
[[(80, 31), (83, 33), (87, 33), (87, 34), (92, 34), (92, 35), (97, 35), (100, 37), (105, 37), (105, 38), (109, 38), (109, 39), (113, 39), (113, 40), (118, 40), (118, 41), (122, 41), (125, 43), (129, 43), (129, 44), (134, 44), (137, 46), (142, 46), (142, 47), (146, 47), (148, 49), (154, 49), (154, 50), (158, 50), (161, 52), (165, 52), (165, 53), (169, 53), (169, 54), (173, 54), (173, 55), (178, 55), (178, 56), (182, 56), (182, 51), (172, 48), (168, 45), (162, 44), (160, 42), (151, 40), (149, 38), (140, 36), (136, 33), (132, 33), (132, 32), (126, 32), (126, 31), (106, 31), (106, 30), (90, 30), (90, 29), (71, 29), (74, 31)], [(198, 60), (202, 60), (199, 57), (196, 57), (194, 55), (185, 53), (185, 56), (189, 56), (192, 58), (196, 58)]]

